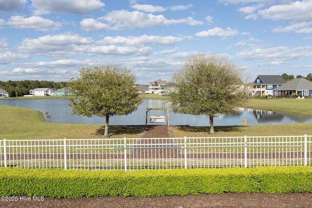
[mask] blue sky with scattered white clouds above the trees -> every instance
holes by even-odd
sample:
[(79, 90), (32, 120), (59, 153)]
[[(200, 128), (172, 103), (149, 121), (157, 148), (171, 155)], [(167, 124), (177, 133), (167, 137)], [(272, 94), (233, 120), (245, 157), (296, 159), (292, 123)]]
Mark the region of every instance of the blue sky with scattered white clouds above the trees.
[(196, 52), (256, 75), (312, 73), (312, 0), (0, 0), (0, 80), (115, 65), (170, 80)]

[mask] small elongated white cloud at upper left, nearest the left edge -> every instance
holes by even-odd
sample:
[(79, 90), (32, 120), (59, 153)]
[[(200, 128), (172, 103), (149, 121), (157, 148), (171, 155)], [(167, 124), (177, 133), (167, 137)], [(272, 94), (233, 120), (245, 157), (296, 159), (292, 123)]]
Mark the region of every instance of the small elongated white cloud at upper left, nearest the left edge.
[(23, 18), (21, 16), (12, 16), (8, 19), (8, 25), (20, 29), (35, 29), (38, 31), (55, 31), (58, 30), (62, 24), (54, 22), (50, 19), (32, 16), (30, 18)]

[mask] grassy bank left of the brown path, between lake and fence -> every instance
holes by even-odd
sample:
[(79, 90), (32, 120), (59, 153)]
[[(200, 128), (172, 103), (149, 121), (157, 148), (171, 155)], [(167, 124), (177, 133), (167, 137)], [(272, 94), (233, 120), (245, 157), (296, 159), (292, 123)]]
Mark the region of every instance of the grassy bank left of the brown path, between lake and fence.
[[(103, 125), (94, 124), (47, 123), (39, 111), (0, 106), (0, 139), (102, 138), (103, 128)], [(110, 138), (138, 138), (141, 131), (141, 128), (109, 126)]]

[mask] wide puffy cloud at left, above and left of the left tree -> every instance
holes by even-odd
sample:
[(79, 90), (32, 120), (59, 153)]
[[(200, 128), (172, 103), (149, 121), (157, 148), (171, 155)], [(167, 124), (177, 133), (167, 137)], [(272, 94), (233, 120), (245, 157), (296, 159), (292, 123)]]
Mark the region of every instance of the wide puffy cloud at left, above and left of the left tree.
[(78, 34), (48, 35), (37, 39), (24, 38), (19, 50), (44, 56), (71, 57), (83, 53), (93, 43), (92, 38), (83, 38)]

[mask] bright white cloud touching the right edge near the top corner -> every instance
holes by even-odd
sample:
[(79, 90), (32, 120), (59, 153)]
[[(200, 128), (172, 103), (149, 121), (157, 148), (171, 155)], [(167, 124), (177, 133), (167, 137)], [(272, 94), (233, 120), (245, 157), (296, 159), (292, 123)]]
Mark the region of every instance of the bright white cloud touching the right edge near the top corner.
[(259, 10), (264, 19), (311, 21), (312, 0), (295, 1), (285, 5), (274, 5), (268, 9)]

